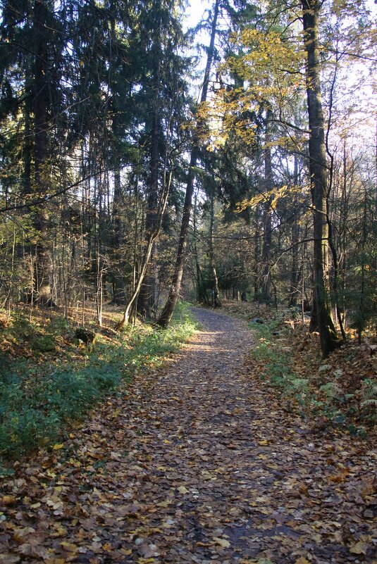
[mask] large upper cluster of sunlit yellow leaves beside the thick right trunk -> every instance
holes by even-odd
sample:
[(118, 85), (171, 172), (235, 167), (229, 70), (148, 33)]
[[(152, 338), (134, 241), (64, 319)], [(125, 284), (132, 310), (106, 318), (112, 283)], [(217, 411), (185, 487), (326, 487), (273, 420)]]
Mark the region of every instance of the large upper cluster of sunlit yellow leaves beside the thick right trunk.
[[(292, 115), (299, 99), (299, 90), (305, 89), (304, 51), (299, 35), (281, 37), (277, 32), (262, 32), (252, 27), (233, 34), (231, 41), (239, 47), (240, 54), (227, 58), (218, 67), (220, 82), (231, 77), (242, 80), (242, 87), (219, 88), (214, 99), (202, 109), (209, 124), (209, 144), (221, 146), (230, 134), (235, 134), (247, 145), (255, 142), (252, 115), (261, 107), (280, 108), (280, 114)], [(274, 145), (295, 144), (295, 136), (282, 137)], [(295, 147), (297, 148), (297, 147)]]

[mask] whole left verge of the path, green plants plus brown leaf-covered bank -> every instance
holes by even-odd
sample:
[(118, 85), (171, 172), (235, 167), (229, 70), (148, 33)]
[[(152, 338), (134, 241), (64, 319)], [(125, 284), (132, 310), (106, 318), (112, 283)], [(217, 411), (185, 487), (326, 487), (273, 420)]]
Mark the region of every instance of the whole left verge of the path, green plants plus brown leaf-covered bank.
[(70, 422), (85, 418), (140, 370), (161, 364), (195, 329), (190, 308), (179, 303), (167, 330), (143, 325), (104, 332), (89, 351), (75, 344), (61, 318), (43, 329), (42, 322), (13, 315), (1, 330), (18, 358), (4, 356), (1, 363), (0, 463), (58, 441)]

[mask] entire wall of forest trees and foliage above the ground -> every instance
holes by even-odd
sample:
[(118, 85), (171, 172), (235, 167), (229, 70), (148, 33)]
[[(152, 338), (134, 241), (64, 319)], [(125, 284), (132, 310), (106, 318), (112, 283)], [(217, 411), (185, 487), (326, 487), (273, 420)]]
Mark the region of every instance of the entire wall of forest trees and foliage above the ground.
[(68, 318), (89, 300), (101, 325), (107, 302), (118, 327), (166, 326), (180, 295), (243, 296), (309, 309), (324, 356), (347, 325), (361, 338), (376, 312), (373, 9), (214, 0), (187, 30), (175, 0), (4, 0), (3, 306)]

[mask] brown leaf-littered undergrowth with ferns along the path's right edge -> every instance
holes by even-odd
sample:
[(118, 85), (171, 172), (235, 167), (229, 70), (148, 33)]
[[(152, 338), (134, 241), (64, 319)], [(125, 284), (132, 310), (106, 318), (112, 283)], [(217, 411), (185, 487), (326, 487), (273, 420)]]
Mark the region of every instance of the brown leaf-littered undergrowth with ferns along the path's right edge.
[[(316, 363), (307, 351), (295, 350), (299, 335), (290, 330), (285, 315), (276, 313), (264, 324), (251, 322), (250, 326), (257, 337), (252, 359), (259, 376), (279, 389), (304, 417), (361, 435), (376, 424), (376, 377), (350, 372), (358, 351), (350, 348), (347, 358), (347, 351), (340, 349), (328, 358), (328, 364)], [(275, 337), (274, 332), (278, 333)]]

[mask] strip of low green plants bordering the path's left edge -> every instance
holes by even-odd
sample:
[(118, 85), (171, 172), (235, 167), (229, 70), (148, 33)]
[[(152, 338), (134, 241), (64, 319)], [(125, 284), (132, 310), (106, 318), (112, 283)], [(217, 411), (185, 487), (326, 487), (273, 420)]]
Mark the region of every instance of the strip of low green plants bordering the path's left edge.
[(68, 422), (84, 418), (101, 396), (132, 380), (135, 372), (161, 363), (195, 327), (183, 303), (167, 330), (130, 327), (111, 341), (99, 336), (90, 354), (76, 349), (79, 361), (9, 363), (0, 380), (0, 461), (56, 441)]

